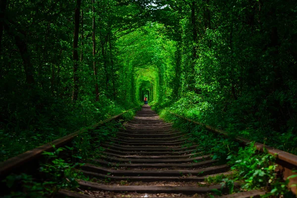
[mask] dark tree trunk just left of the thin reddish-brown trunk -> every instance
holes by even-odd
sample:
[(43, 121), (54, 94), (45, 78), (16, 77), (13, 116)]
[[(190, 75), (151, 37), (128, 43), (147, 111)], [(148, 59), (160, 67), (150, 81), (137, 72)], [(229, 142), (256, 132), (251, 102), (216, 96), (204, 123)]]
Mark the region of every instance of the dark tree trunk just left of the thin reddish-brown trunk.
[(79, 34), (79, 18), (80, 18), (80, 6), (81, 6), (81, 0), (76, 1), (76, 8), (74, 13), (74, 33), (73, 33), (73, 94), (72, 94), (72, 101), (75, 102), (78, 97), (78, 34)]

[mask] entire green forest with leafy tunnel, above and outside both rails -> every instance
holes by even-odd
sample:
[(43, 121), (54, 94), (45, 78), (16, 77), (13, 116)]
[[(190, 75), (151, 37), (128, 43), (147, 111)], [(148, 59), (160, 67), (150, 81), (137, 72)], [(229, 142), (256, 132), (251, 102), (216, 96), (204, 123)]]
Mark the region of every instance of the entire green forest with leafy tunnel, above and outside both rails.
[(2, 0), (1, 159), (145, 95), (297, 152), (296, 20), (295, 1)]

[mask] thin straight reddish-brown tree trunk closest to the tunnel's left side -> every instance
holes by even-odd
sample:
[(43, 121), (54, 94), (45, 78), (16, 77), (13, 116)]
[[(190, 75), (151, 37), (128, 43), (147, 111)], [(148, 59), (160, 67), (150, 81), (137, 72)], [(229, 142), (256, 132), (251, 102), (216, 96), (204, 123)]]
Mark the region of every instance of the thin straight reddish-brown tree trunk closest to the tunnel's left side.
[(93, 35), (92, 35), (92, 40), (93, 40), (93, 67), (94, 67), (94, 75), (95, 75), (95, 100), (99, 100), (99, 88), (98, 88), (98, 74), (97, 74), (97, 66), (96, 66), (96, 60), (95, 60), (95, 55), (96, 55), (96, 21), (95, 21), (95, 0), (93, 0)]

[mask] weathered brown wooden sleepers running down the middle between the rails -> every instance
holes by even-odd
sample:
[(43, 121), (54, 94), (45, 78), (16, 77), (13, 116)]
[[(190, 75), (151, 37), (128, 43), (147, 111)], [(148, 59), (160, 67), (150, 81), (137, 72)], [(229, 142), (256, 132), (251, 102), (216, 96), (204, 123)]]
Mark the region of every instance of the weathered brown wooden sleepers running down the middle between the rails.
[[(185, 135), (172, 128), (170, 123), (163, 122), (148, 105), (144, 105), (133, 120), (119, 129), (115, 137), (95, 146), (100, 150), (97, 154), (81, 161), (84, 164), (79, 171), (83, 177), (77, 179), (79, 187), (60, 189), (55, 197), (203, 198), (215, 196), (214, 189), (223, 192), (222, 198), (249, 198), (265, 194), (264, 191), (253, 190), (228, 195), (230, 187), (227, 185), (222, 187), (221, 184), (205, 182), (208, 177), (228, 176), (233, 172), (227, 164), (213, 160), (211, 154), (197, 151), (198, 145), (189, 144), (191, 142)], [(31, 172), (38, 169), (35, 157), (26, 158), (26, 162), (35, 160)], [(15, 159), (21, 161), (22, 157)], [(20, 163), (10, 166), (7, 162), (3, 164), (5, 169), (1, 168), (1, 179), (3, 175), (14, 172), (18, 166), (15, 164)], [(27, 164), (23, 168), (28, 166), (28, 163), (22, 164)], [(18, 172), (22, 171), (22, 168), (18, 169)], [(240, 185), (234, 183), (234, 188), (240, 188)]]

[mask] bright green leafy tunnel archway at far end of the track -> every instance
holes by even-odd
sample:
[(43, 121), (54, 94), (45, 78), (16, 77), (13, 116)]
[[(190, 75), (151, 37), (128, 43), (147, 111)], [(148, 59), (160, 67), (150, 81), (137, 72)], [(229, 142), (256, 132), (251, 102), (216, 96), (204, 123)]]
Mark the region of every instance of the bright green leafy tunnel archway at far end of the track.
[(148, 95), (149, 103), (154, 104), (172, 95), (172, 80), (168, 79), (176, 76), (171, 67), (175, 42), (160, 36), (158, 31), (164, 30), (162, 24), (152, 23), (119, 39), (118, 46), (125, 51), (120, 59), (121, 90), (127, 93), (124, 98), (143, 103)]

